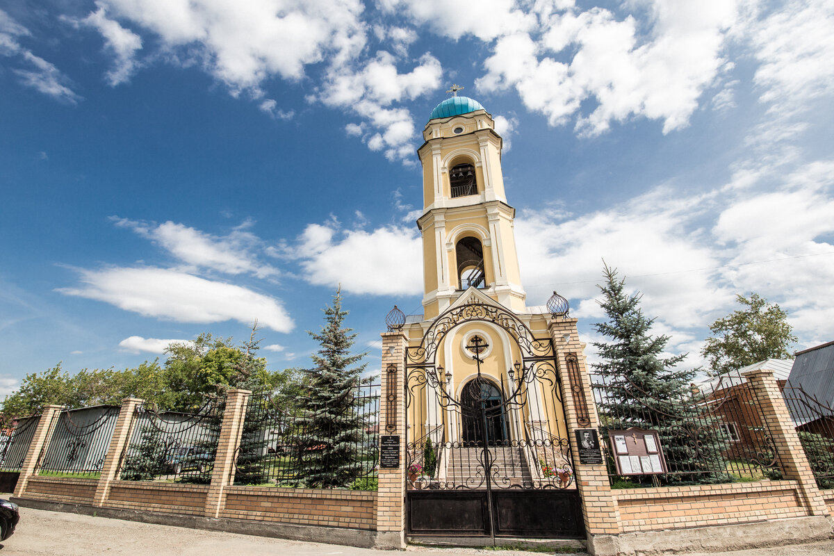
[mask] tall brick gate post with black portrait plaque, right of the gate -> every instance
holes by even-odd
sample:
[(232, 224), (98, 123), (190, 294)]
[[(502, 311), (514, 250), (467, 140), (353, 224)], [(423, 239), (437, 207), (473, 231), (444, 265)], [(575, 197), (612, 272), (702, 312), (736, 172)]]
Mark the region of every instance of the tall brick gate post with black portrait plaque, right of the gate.
[[(605, 463), (580, 463), (579, 446), (573, 433), (577, 428), (599, 428), (594, 393), (585, 367), (585, 344), (579, 341), (576, 319), (554, 317), (549, 326), (550, 338), (556, 348), (562, 396), (565, 400), (565, 421), (574, 454), (575, 481), (582, 498), (582, 515), (588, 537), (588, 551), (597, 556), (616, 554), (616, 535), (620, 528), (620, 512), (611, 493)], [(600, 443), (606, 442), (600, 438)]]

